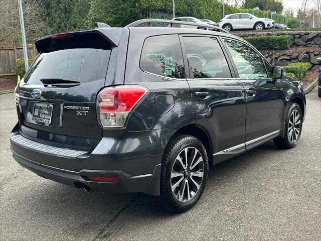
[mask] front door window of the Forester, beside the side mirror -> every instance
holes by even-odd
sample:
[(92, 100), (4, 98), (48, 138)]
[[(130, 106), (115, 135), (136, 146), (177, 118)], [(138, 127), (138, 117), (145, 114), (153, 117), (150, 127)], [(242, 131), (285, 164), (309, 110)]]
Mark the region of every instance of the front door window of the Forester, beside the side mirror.
[(267, 73), (261, 56), (250, 47), (240, 42), (224, 40), (230, 51), (240, 78), (267, 78)]

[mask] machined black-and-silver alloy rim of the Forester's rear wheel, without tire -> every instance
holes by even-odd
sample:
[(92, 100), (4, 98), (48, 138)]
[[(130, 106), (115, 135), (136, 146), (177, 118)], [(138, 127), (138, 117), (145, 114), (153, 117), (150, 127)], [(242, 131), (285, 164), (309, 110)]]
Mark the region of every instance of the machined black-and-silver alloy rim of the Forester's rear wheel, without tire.
[(200, 190), (204, 176), (204, 161), (195, 147), (184, 148), (176, 157), (171, 173), (171, 189), (181, 201), (191, 200)]

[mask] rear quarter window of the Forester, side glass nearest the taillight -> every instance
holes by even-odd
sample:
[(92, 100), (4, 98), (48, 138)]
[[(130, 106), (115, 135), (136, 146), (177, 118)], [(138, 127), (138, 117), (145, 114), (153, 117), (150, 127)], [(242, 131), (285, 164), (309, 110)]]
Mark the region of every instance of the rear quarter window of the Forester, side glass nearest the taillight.
[(153, 74), (185, 78), (183, 55), (178, 35), (147, 38), (141, 52), (140, 68)]

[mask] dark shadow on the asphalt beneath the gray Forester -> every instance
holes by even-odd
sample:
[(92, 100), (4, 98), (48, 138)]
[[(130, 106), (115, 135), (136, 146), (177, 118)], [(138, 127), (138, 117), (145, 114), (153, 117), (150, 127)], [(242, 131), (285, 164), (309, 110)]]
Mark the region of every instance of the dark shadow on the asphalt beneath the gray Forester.
[[(216, 191), (226, 191), (237, 178), (242, 176), (242, 173), (248, 172), (251, 168), (260, 167), (262, 162), (269, 160), (271, 152), (279, 152), (279, 150), (272, 142), (268, 142), (238, 157), (210, 167), (205, 192), (190, 212), (201, 212), (208, 201), (219, 198), (215, 196)], [(256, 158), (258, 155), (260, 158)], [(28, 194), (32, 194), (32, 199), (27, 199), (26, 205), (29, 205), (30, 210), (36, 210), (32, 214), (34, 219), (46, 216), (47, 222), (52, 225), (54, 222), (60, 222), (65, 231), (77, 230), (74, 234), (76, 238), (91, 235), (95, 236), (95, 239), (108, 239), (124, 229), (130, 230), (133, 226), (146, 228), (152, 225), (151, 219), (168, 222), (174, 218), (184, 218), (189, 213), (167, 213), (154, 202), (153, 197), (142, 193), (86, 193), (83, 189), (75, 189), (52, 181), (48, 181), (45, 187), (42, 186), (41, 191), (35, 190)], [(24, 195), (28, 196), (28, 194)], [(30, 199), (32, 201), (29, 201)], [(130, 227), (130, 223), (134, 225)]]

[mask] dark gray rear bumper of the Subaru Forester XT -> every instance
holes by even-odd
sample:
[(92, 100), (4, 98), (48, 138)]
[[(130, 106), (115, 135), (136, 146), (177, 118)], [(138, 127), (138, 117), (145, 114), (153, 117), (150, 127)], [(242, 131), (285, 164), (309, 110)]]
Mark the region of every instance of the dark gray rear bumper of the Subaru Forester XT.
[[(76, 187), (85, 184), (96, 191), (159, 195), (162, 157), (174, 131), (104, 137), (92, 152), (49, 146), (21, 134), (17, 125), (10, 135), (13, 157), (41, 177)], [(118, 181), (95, 182), (88, 176), (118, 177)]]

